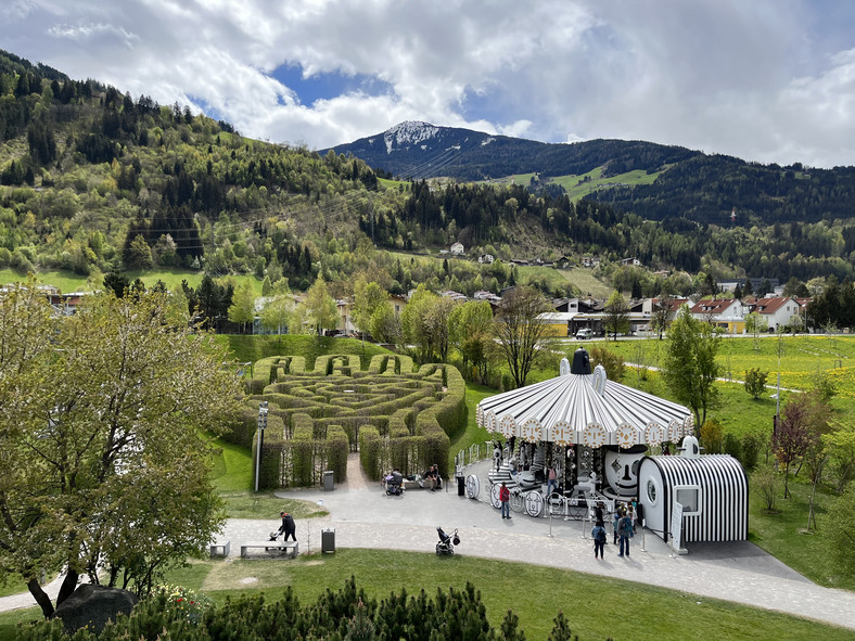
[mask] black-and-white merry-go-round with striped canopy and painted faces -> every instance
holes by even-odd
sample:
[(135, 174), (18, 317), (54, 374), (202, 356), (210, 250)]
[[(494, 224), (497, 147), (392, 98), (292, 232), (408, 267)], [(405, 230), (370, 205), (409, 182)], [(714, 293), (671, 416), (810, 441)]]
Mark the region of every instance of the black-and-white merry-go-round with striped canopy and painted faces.
[[(514, 511), (584, 518), (598, 502), (612, 512), (616, 502), (636, 499), (641, 459), (679, 444), (693, 419), (681, 405), (610, 381), (602, 366), (591, 371), (579, 348), (572, 366), (562, 359), (559, 376), (482, 400), (477, 424), (496, 444), (488, 475), (494, 507), (505, 483)], [(467, 478), (470, 498), (480, 486), (477, 476)]]

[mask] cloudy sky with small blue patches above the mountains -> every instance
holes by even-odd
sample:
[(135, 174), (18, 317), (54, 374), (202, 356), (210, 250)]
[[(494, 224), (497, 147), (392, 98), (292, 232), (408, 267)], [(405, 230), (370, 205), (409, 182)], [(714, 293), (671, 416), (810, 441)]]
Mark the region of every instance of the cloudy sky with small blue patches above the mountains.
[(424, 120), (855, 165), (853, 0), (2, 0), (0, 49), (309, 149)]

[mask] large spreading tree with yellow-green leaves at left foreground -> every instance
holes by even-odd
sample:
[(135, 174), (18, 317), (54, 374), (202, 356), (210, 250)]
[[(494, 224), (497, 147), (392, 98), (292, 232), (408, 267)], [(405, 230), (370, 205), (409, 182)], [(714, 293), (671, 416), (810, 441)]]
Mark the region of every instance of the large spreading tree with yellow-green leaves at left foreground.
[(240, 383), (209, 334), (168, 322), (166, 294), (93, 296), (54, 319), (35, 287), (0, 298), (0, 578), (42, 571), (145, 591), (222, 522), (202, 430)]

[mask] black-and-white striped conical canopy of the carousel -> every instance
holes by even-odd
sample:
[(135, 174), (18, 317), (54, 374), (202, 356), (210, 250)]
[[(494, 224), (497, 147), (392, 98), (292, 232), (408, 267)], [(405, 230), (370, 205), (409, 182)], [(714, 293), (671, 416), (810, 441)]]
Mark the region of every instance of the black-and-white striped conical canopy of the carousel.
[(477, 423), (506, 438), (589, 447), (656, 446), (692, 431), (691, 411), (652, 394), (609, 381), (602, 366), (591, 374), (588, 354), (576, 350), (561, 375), (485, 398)]

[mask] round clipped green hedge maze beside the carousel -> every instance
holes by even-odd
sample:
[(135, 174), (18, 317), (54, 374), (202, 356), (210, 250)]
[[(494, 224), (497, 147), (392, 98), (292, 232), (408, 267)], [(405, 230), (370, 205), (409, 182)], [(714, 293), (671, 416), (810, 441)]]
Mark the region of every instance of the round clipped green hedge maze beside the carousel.
[[(332, 470), (347, 474), (347, 454), (359, 452), (379, 480), (398, 467), (417, 474), (436, 463), (447, 476), (449, 436), (465, 425), (465, 384), (451, 366), (414, 370), (406, 356), (375, 356), (367, 370), (357, 356), (321, 356), (306, 371), (301, 356), (255, 363), (251, 396), (230, 440), (256, 459), (258, 405), (268, 402), (259, 488), (311, 487)], [(254, 472), (254, 471), (253, 471)]]

